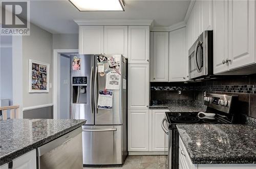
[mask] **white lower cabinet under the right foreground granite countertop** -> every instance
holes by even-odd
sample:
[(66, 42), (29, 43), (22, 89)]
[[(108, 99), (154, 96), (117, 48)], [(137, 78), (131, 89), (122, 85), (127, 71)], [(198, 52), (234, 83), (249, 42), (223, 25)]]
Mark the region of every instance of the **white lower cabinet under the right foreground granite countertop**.
[(193, 164), (179, 137), (179, 169), (252, 169), (256, 164)]

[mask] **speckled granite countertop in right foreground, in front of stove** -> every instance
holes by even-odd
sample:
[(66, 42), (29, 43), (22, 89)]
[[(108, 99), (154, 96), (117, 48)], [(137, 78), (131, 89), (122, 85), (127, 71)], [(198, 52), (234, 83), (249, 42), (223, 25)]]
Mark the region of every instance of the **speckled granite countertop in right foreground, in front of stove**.
[(256, 163), (256, 128), (176, 125), (194, 164)]

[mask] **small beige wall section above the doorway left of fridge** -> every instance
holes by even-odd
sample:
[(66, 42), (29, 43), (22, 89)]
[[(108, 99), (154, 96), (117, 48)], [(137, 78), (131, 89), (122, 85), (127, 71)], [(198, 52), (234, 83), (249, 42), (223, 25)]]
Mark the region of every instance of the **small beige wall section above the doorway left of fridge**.
[(53, 34), (53, 49), (78, 49), (78, 34)]

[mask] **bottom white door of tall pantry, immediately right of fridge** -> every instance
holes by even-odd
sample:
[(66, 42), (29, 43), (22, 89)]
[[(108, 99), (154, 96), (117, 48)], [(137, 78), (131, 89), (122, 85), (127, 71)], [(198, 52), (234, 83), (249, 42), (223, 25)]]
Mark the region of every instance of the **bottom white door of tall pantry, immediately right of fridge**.
[(128, 151), (148, 151), (148, 110), (128, 111)]

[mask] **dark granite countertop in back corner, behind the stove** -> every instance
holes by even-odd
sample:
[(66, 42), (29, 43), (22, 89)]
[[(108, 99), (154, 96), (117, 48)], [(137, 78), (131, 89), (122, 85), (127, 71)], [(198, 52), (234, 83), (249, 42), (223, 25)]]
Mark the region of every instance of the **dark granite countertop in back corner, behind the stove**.
[(194, 100), (161, 100), (153, 101), (150, 109), (169, 109), (170, 112), (205, 111), (203, 102)]

